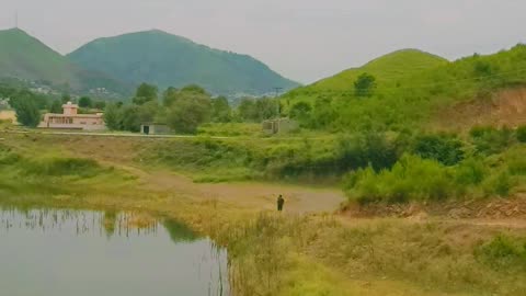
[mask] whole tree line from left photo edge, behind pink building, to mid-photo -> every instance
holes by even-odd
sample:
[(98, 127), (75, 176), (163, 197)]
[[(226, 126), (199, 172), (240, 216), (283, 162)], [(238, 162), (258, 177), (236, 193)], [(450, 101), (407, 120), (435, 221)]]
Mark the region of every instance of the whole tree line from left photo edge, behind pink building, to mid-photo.
[(28, 127), (38, 125), (44, 111), (61, 113), (62, 104), (73, 101), (79, 104), (80, 113), (104, 110), (105, 123), (113, 130), (139, 132), (142, 123), (162, 123), (182, 134), (195, 133), (204, 123), (260, 123), (276, 117), (282, 109), (276, 99), (270, 98), (244, 98), (232, 106), (227, 98), (213, 98), (195, 84), (159, 92), (156, 86), (142, 83), (129, 103), (106, 103), (89, 96), (73, 100), (67, 94), (53, 98), (1, 86), (0, 98), (10, 98), (10, 105), (15, 110), (19, 123)]

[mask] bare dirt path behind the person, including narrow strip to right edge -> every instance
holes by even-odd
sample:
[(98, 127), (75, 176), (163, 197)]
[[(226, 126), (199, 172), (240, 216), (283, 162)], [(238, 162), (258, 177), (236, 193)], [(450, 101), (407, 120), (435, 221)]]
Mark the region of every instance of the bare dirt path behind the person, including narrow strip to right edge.
[[(340, 208), (341, 203), (345, 201), (343, 192), (338, 189), (316, 189), (261, 182), (194, 183), (192, 179), (187, 177), (169, 171), (148, 172), (136, 167), (122, 164), (118, 167), (137, 175), (140, 186), (148, 191), (169, 192), (174, 196), (184, 196), (199, 202), (215, 200), (231, 204), (232, 206), (253, 208), (256, 210), (275, 209), (276, 196), (278, 194), (283, 194), (286, 198), (285, 212), (295, 214), (334, 213)], [(500, 229), (526, 229), (526, 216), (514, 218), (453, 218), (442, 215), (428, 216), (421, 214), (395, 219), (418, 224), (441, 223)], [(339, 216), (339, 220), (346, 226), (367, 224), (368, 221), (378, 219), (382, 219), (381, 216), (353, 217), (345, 214)]]

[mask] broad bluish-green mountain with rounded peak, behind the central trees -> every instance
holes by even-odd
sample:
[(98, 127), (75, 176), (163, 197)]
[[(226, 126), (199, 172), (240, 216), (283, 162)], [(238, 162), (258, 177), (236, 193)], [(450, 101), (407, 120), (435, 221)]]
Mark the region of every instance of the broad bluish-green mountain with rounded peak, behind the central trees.
[(298, 86), (250, 56), (213, 49), (161, 31), (95, 39), (69, 58), (135, 84), (181, 88), (196, 83), (215, 94), (264, 94), (273, 88)]

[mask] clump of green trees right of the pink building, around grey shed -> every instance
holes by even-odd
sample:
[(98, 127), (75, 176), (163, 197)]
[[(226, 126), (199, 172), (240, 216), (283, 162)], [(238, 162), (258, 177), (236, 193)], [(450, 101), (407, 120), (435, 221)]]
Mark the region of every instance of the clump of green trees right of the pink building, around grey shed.
[(275, 99), (242, 99), (232, 107), (225, 96), (213, 98), (203, 88), (191, 84), (168, 88), (159, 98), (156, 86), (142, 83), (130, 104), (110, 103), (104, 121), (110, 129), (139, 132), (142, 123), (162, 123), (174, 132), (192, 134), (204, 123), (261, 122), (278, 114)]

